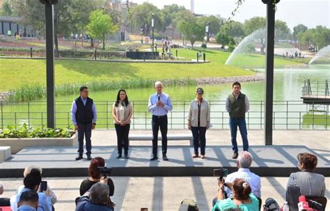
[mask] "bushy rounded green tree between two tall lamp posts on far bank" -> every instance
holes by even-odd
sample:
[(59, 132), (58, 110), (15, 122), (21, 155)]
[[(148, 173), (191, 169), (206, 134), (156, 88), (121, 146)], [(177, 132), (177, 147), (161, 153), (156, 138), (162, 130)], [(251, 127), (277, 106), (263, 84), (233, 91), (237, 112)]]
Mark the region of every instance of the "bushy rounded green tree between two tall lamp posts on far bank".
[(184, 38), (190, 41), (191, 47), (194, 47), (196, 41), (203, 40), (205, 34), (204, 27), (197, 24), (197, 19), (194, 15), (191, 15), (189, 20), (180, 20), (178, 22), (178, 29)]

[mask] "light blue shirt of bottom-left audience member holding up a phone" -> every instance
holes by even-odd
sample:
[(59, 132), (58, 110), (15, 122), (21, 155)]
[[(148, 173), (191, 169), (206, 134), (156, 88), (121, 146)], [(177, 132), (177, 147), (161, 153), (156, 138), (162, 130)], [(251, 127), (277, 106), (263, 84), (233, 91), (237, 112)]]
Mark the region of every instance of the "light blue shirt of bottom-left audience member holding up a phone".
[[(19, 202), (19, 198), (21, 197), (21, 194), (23, 192), (28, 192), (31, 191), (29, 188), (24, 188), (22, 189), (22, 192), (12, 196), (10, 198), (10, 208), (13, 211), (17, 211), (17, 203)], [(49, 196), (46, 196), (45, 193), (42, 192), (37, 192), (39, 196), (39, 201), (38, 201), (38, 211), (52, 211), (53, 210), (53, 205), (52, 201), (50, 200)]]

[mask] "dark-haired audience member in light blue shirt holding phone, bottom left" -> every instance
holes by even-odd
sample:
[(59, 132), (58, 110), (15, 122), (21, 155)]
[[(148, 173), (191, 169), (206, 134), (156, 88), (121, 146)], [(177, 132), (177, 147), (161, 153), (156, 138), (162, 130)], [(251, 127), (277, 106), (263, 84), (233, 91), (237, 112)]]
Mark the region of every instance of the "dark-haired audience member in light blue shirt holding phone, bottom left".
[[(38, 169), (31, 169), (31, 172), (24, 178), (24, 188), (18, 194), (10, 198), (10, 207), (13, 211), (17, 211), (17, 203), (24, 192), (37, 192), (41, 183), (41, 172)], [(39, 196), (38, 211), (52, 211), (52, 202), (49, 196), (44, 192), (37, 192)]]

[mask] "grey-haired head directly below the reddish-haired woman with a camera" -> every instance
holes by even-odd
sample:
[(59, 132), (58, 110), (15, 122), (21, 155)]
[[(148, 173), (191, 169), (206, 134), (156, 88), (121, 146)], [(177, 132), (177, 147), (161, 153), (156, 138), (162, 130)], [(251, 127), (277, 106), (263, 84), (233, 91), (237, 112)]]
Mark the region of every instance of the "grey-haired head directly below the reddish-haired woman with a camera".
[(109, 198), (109, 186), (102, 182), (95, 183), (89, 189), (89, 201), (94, 204), (105, 204)]

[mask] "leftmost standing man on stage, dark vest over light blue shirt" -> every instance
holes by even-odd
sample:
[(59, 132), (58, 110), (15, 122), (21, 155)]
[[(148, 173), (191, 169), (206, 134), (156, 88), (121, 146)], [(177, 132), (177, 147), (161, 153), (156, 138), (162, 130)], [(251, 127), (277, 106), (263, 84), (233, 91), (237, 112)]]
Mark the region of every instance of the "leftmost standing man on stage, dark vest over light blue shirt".
[(86, 155), (87, 159), (91, 160), (91, 136), (92, 130), (96, 125), (96, 108), (93, 99), (88, 97), (88, 87), (81, 86), (80, 96), (72, 102), (71, 120), (74, 125), (74, 130), (78, 131), (78, 156), (76, 160), (82, 159), (84, 153), (84, 136), (86, 139)]

